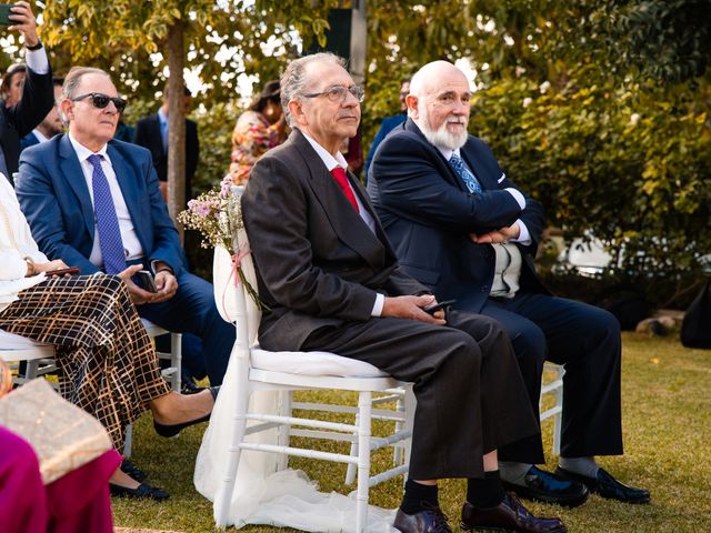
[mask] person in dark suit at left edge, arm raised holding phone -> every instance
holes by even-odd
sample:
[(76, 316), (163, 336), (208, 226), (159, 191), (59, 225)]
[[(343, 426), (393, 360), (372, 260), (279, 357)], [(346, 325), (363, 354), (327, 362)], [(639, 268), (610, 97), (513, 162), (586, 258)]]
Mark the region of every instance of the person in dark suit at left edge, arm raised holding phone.
[(24, 37), (27, 49), (27, 67), (13, 66), (8, 70), (0, 99), (0, 172), (12, 182), (20, 159), (20, 139), (42, 122), (54, 104), (54, 94), (52, 70), (37, 34), (37, 20), (30, 4), (17, 2), (11, 8), (10, 19), (11, 28)]

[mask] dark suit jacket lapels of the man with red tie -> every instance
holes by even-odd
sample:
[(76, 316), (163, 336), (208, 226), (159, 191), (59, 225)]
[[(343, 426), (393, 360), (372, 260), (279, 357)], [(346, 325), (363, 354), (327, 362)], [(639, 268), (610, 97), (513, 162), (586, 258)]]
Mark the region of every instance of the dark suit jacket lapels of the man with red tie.
[[(311, 189), (318, 201), (323, 205), (323, 211), (326, 212), (333, 231), (338, 234), (341, 241), (361, 255), (368, 264), (375, 269), (382, 268), (385, 254), (385, 249), (382, 242), (378, 240), (373, 232), (365, 225), (358, 212), (356, 212), (343, 194), (343, 191), (340, 190), (338, 184), (334, 182), (333, 177), (327, 170), (321, 158), (319, 158), (319, 155), (313, 151), (303, 134), (299, 130), (294, 129), (291, 134), (291, 139), (306, 160), (307, 168), (310, 173)], [(377, 221), (378, 218), (374, 214), (370, 202), (362, 193), (360, 187), (354, 184), (354, 179), (350, 172), (348, 174), (351, 185), (359, 195), (361, 203)], [(379, 223), (375, 222), (375, 225), (378, 227)]]

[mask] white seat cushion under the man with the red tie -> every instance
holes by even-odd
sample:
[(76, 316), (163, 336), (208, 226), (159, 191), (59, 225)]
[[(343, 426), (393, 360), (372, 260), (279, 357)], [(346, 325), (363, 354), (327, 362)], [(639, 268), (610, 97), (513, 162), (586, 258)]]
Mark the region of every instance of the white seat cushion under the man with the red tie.
[(370, 363), (329, 352), (268, 352), (253, 348), (252, 368), (299, 375), (332, 375), (339, 378), (387, 378)]

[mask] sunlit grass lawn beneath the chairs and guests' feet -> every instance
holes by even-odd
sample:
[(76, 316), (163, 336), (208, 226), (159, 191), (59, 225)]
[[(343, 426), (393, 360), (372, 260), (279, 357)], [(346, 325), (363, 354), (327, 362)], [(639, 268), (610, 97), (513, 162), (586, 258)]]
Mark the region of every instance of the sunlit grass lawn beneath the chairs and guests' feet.
[[(623, 346), (625, 454), (602, 457), (601, 463), (620, 479), (648, 487), (652, 492), (652, 504), (625, 505), (591, 496), (573, 510), (530, 502), (528, 505), (538, 514), (561, 516), (571, 533), (711, 531), (711, 352), (684, 349), (675, 339), (638, 334), (625, 334)], [(198, 494), (192, 484), (202, 431), (191, 428), (178, 439), (166, 440), (153, 433), (148, 416), (141, 419), (132, 460), (149, 472), (149, 482), (168, 490), (171, 499), (162, 504), (114, 499), (117, 526), (184, 533), (214, 530), (212, 504)], [(543, 432), (548, 466), (552, 469), (555, 457), (550, 455), (550, 423), (544, 423)], [(388, 456), (377, 461), (388, 461)], [(343, 465), (297, 459), (291, 465), (318, 480), (322, 491), (351, 490), (342, 485)], [(394, 507), (400, 491), (399, 480), (379, 485), (371, 490), (371, 503)], [(440, 503), (454, 531), (463, 494), (461, 480), (444, 481), (440, 485)], [(248, 526), (242, 531), (293, 530)]]

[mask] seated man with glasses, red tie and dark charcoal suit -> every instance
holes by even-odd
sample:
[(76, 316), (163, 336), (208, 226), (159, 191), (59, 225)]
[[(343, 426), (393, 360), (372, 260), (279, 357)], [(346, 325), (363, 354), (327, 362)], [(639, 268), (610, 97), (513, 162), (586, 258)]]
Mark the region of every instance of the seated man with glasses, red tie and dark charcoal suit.
[(414, 383), (410, 480), (395, 517), (403, 532), (449, 532), (437, 480), (467, 477), (467, 527), (564, 532), (503, 492), (497, 447), (537, 432), (511, 346), (498, 324), (433, 315), (427, 288), (398, 266), (370, 202), (339, 152), (356, 134), (362, 88), (319, 53), (289, 64), (281, 101), (289, 140), (252, 169), (242, 199), (270, 311), (268, 350), (324, 350)]

